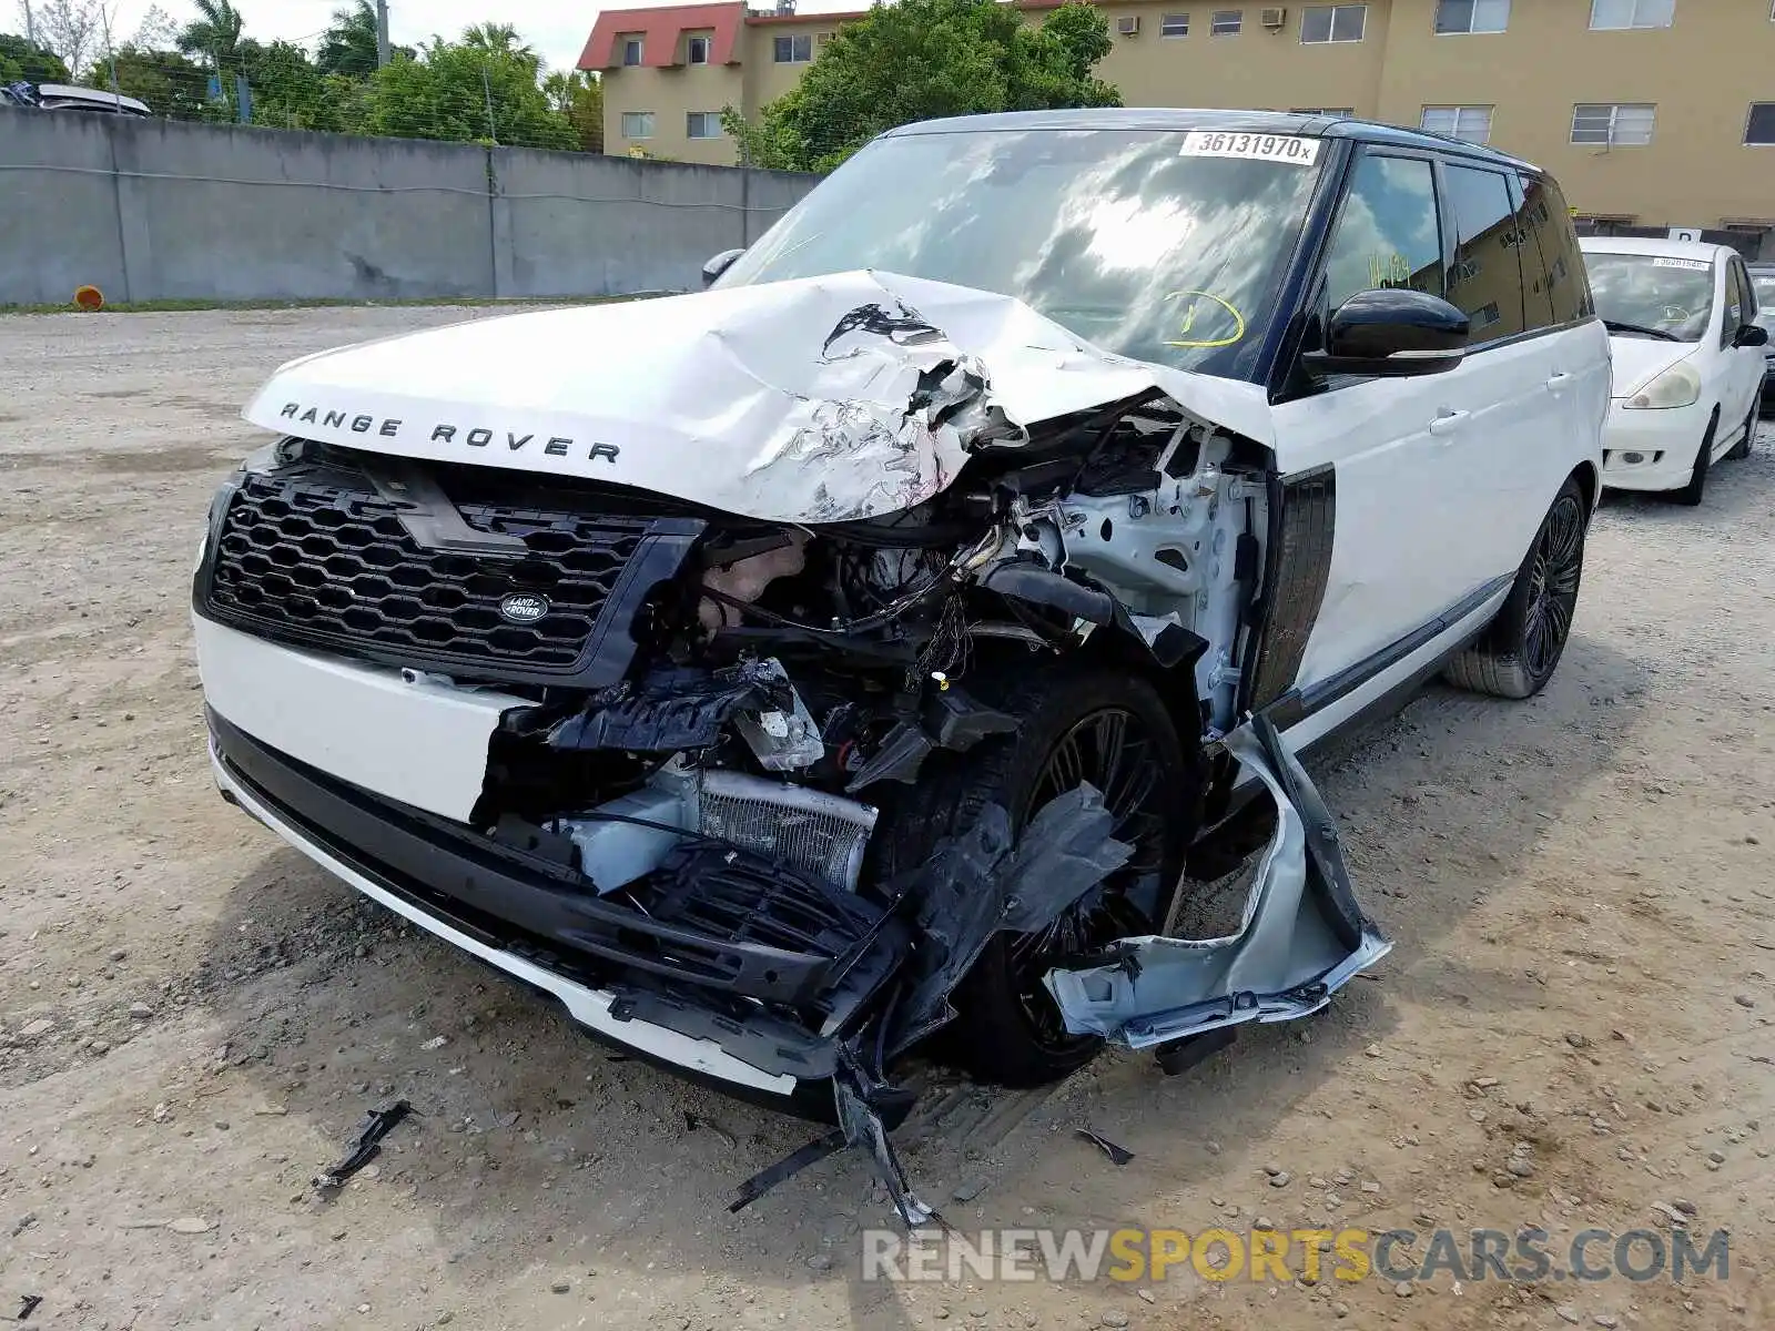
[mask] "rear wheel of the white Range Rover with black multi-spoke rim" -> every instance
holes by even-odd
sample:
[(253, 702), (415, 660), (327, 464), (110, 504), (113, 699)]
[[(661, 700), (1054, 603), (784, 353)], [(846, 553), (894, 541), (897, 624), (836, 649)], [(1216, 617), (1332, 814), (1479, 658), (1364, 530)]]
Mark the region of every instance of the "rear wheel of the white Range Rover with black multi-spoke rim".
[(1589, 522), (1583, 490), (1567, 477), (1516, 570), (1498, 618), (1443, 667), (1448, 683), (1518, 699), (1546, 687), (1571, 637)]

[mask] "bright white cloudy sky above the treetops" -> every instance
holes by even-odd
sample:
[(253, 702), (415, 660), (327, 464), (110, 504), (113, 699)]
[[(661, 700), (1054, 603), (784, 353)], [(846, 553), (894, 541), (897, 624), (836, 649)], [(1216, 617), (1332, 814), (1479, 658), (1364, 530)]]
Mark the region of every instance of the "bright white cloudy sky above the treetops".
[[(137, 30), (153, 4), (153, 0), (106, 2), (115, 5), (112, 32), (119, 41)], [(234, 7), (247, 20), (248, 37), (259, 41), (282, 37), (296, 43), (318, 37), (341, 4), (343, 0), (234, 0)], [(650, 0), (630, 0), (621, 7), (646, 4)], [(763, 7), (761, 0), (753, 4)], [(179, 23), (192, 12), (186, 0), (160, 0), (160, 7)], [(859, 0), (804, 0), (801, 5), (809, 14), (861, 7)], [(550, 67), (572, 69), (586, 48), (598, 9), (584, 0), (389, 0), (389, 34), (401, 46), (415, 46), (433, 35), (454, 37), (470, 23), (488, 20), (511, 23)]]

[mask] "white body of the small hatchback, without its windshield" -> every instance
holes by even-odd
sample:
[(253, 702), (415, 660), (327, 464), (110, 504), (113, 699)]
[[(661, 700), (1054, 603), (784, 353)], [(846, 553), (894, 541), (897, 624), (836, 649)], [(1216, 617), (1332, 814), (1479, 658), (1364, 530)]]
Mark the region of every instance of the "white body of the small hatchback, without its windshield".
[[(1743, 259), (1729, 245), (1699, 241), (1585, 236), (1583, 252), (1592, 259), (1612, 256), (1645, 264), (1706, 266), (1711, 277), (1706, 319), (1693, 341), (1663, 341), (1633, 332), (1610, 337), (1613, 380), (1608, 403), (1606, 460), (1603, 484), (1619, 490), (1670, 492), (1686, 486), (1706, 440), (1708, 463), (1740, 447), (1755, 429), (1763, 392), (1764, 348), (1736, 346), (1740, 327), (1755, 321), (1755, 296)], [(1679, 270), (1683, 272), (1683, 270)], [(1741, 286), (1740, 286), (1741, 284)], [(1610, 311), (1603, 295), (1598, 311)], [(1672, 311), (1676, 314), (1676, 311)], [(1688, 311), (1699, 316), (1700, 311)], [(1674, 318), (1670, 325), (1684, 323)], [(1654, 325), (1656, 327), (1656, 325)], [(1692, 376), (1692, 387), (1674, 394), (1674, 405), (1649, 392), (1665, 376)]]

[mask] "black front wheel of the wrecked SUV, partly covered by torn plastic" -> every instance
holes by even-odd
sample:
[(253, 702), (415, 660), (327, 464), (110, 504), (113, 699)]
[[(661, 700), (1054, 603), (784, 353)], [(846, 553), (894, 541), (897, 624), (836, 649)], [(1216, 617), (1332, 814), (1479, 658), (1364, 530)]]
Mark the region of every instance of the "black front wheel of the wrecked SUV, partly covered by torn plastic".
[[(1186, 752), (1159, 690), (1125, 667), (1060, 667), (998, 689), (990, 680), (971, 680), (969, 687), (982, 703), (1022, 724), (966, 754), (927, 761), (918, 784), (886, 811), (886, 836), (877, 834), (880, 880), (923, 864), (939, 839), (967, 831), (989, 802), (1008, 809), (1014, 832), (1022, 832), (1042, 804), (1077, 779), (1104, 790), (1111, 811), (1122, 815), (1116, 834), (1138, 847), (1134, 861), (1106, 882), (1097, 909), (1070, 909), (1042, 935), (996, 933), (951, 996), (957, 1020), (935, 1042), (939, 1056), (980, 1081), (1044, 1086), (1085, 1067), (1102, 1040), (1069, 1035), (1033, 976), (1069, 951), (1163, 926), (1163, 918), (1143, 914), (1122, 893), (1152, 870), (1161, 887), (1177, 882), (1202, 816), (1202, 761), (1195, 744)], [(1134, 799), (1140, 792), (1132, 776), (1118, 786), (1088, 770), (1102, 756), (1095, 751), (1097, 728), (1116, 726), (1127, 770), (1150, 768), (1156, 781), (1143, 799)], [(1063, 754), (1076, 760), (1067, 772), (1083, 777), (1056, 779), (1051, 765)], [(1163, 916), (1163, 907), (1161, 891), (1156, 914)]]

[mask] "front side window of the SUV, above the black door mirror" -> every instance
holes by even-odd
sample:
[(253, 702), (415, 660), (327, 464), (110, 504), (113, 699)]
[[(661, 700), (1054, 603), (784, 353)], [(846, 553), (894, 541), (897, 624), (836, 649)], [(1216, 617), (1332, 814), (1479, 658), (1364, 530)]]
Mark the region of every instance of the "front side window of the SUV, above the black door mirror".
[(1363, 154), (1326, 256), (1328, 311), (1358, 291), (1411, 287), (1443, 295), (1436, 176), (1422, 158)]

